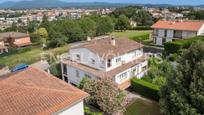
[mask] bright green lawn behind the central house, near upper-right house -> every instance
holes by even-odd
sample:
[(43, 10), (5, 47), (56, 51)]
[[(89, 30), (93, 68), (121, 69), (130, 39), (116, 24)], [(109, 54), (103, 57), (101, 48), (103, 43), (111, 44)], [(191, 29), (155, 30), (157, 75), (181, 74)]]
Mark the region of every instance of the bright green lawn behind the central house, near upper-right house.
[(137, 42), (142, 42), (144, 44), (148, 44), (151, 42), (149, 39), (149, 35), (152, 31), (144, 30), (144, 31), (123, 31), (123, 32), (113, 32), (111, 35), (121, 37), (121, 38), (129, 38), (135, 40)]

